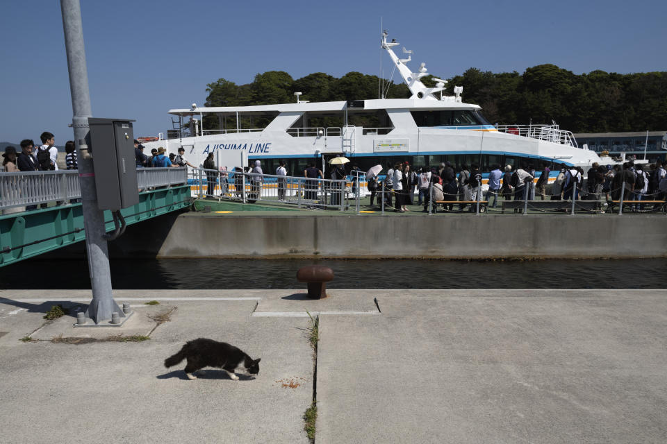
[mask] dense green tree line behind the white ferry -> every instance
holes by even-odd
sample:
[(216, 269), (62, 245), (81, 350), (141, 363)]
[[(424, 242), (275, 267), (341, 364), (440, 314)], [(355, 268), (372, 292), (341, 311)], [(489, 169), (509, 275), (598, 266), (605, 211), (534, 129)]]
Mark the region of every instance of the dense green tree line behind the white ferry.
[[(470, 68), (447, 79), (447, 95), (463, 86), (463, 101), (476, 103), (491, 123), (559, 123), (574, 133), (667, 129), (667, 72), (573, 74), (556, 65), (537, 65), (523, 74)], [(432, 76), (422, 81), (433, 87)], [(410, 96), (403, 83), (384, 81), (385, 97)], [(294, 80), (284, 71), (257, 74), (252, 83), (236, 85), (224, 78), (206, 87), (206, 106), (293, 103), (294, 93), (311, 102), (377, 99), (379, 78), (349, 72), (340, 78), (322, 72)], [(206, 128), (217, 128), (207, 117)]]

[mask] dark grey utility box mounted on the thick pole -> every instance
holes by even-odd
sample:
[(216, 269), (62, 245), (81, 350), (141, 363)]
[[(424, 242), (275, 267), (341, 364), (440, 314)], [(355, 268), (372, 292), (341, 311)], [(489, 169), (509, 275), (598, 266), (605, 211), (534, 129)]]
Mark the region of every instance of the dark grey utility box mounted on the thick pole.
[(139, 203), (133, 120), (88, 119), (90, 153), (100, 210), (120, 210)]

